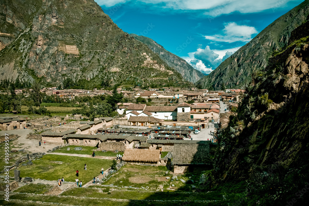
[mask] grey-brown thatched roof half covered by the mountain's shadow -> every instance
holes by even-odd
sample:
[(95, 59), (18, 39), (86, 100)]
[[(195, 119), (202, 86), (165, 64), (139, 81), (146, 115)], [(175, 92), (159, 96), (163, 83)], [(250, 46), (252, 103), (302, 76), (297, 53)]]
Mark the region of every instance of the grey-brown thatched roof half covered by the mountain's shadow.
[(175, 144), (174, 165), (200, 165), (209, 163), (208, 144)]

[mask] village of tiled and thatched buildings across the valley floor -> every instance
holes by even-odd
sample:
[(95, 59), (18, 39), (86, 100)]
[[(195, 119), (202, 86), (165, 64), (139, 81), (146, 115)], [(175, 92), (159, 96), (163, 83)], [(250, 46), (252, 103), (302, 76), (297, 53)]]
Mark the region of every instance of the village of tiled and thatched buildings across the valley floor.
[[(113, 95), (106, 90), (44, 88), (40, 92), (66, 101), (76, 96)], [(235, 115), (245, 91), (169, 87), (133, 91), (118, 88), (117, 92), (129, 102), (118, 103), (118, 115), (114, 117), (36, 117), (17, 111), (1, 115), (0, 135), (10, 139), (12, 194), (29, 187), (37, 187), (40, 194), (43, 190), (44, 195), (75, 194), (78, 178), (80, 182), (83, 179), (83, 188), (104, 194), (128, 189), (164, 193), (186, 188), (194, 192), (201, 184), (197, 177), (212, 169), (218, 137), (229, 117)], [(138, 103), (138, 98), (148, 103)], [(49, 175), (51, 171), (53, 175)], [(138, 174), (123, 176), (125, 171)], [(0, 174), (1, 179), (4, 177)], [(62, 183), (61, 178), (65, 180)], [(222, 197), (215, 201), (219, 200)]]

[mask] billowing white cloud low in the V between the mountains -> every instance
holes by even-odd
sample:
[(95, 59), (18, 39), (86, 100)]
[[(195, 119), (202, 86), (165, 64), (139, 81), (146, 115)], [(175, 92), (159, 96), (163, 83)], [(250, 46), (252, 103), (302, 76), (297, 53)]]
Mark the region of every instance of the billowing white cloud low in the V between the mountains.
[(222, 61), (230, 57), (240, 47), (224, 49), (224, 50), (211, 50), (209, 46), (205, 49), (197, 48), (196, 52), (188, 53), (188, 57), (181, 57), (186, 60), (194, 69), (202, 73), (209, 74), (216, 69)]

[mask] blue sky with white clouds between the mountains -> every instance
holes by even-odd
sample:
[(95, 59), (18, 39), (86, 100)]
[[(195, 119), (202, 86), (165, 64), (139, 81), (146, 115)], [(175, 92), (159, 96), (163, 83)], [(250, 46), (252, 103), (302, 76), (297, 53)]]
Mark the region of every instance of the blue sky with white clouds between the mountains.
[(301, 0), (95, 0), (124, 32), (147, 36), (209, 74)]

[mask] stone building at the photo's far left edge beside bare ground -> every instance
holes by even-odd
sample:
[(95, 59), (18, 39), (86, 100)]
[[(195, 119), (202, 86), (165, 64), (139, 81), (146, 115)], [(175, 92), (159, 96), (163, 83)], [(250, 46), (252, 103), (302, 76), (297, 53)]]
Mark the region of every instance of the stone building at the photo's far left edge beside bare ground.
[(0, 118), (0, 129), (3, 131), (23, 129), (24, 127), (26, 127), (26, 119), (21, 118), (20, 116)]

